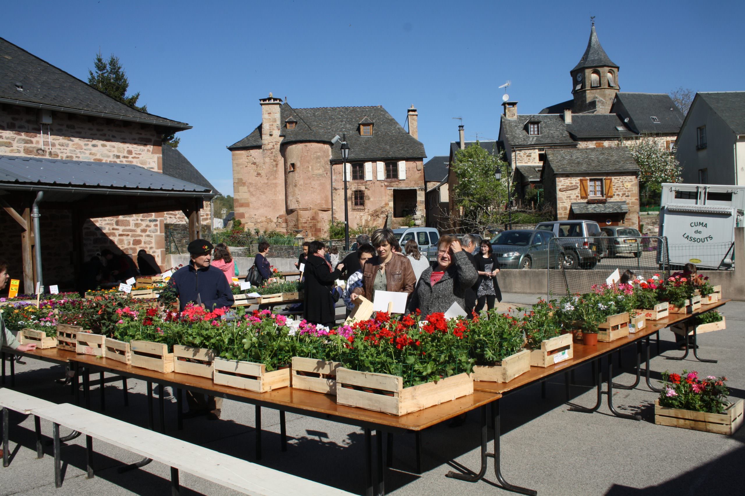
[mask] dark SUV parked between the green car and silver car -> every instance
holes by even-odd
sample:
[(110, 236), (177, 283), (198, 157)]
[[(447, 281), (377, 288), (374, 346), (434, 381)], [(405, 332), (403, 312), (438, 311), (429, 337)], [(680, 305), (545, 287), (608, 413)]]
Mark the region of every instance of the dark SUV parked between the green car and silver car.
[(591, 220), (539, 222), (536, 229), (549, 231), (559, 238), (557, 245), (563, 250), (564, 268), (595, 268), (607, 250), (606, 240), (601, 239), (600, 225)]

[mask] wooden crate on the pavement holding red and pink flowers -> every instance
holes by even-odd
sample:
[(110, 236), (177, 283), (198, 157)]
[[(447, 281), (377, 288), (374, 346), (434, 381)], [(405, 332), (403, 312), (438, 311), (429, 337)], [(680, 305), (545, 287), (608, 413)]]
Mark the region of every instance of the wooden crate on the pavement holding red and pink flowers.
[(745, 400), (738, 399), (737, 402), (729, 405), (724, 413), (705, 413), (662, 407), (659, 405), (659, 399), (656, 399), (654, 401), (654, 423), (716, 434), (735, 434), (745, 419), (744, 403)]

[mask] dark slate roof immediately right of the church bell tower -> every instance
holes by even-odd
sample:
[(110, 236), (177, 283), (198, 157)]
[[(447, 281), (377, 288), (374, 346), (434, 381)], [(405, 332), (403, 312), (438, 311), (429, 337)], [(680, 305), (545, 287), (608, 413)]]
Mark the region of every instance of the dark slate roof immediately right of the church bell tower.
[[(640, 135), (657, 132), (677, 133), (684, 119), (682, 112), (667, 93), (618, 91), (610, 111), (618, 114), (621, 120), (628, 117), (627, 125)], [(652, 117), (657, 117), (659, 123), (654, 123)]]

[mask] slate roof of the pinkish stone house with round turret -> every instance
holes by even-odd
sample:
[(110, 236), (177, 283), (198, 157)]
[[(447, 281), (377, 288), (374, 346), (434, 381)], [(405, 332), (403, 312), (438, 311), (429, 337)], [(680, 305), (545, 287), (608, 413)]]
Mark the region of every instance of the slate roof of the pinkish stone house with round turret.
[[(349, 160), (373, 158), (424, 158), (424, 145), (411, 136), (382, 106), (321, 107), (293, 109), (288, 103), (280, 106), (280, 122), (290, 115), (297, 119), (295, 129), (284, 126), (280, 132), (282, 143), (299, 141), (331, 142), (335, 135), (349, 143)], [(373, 123), (373, 135), (361, 136), (359, 123), (367, 117)], [(261, 147), (261, 125), (228, 149)], [(332, 161), (340, 161), (340, 141), (332, 146)]]

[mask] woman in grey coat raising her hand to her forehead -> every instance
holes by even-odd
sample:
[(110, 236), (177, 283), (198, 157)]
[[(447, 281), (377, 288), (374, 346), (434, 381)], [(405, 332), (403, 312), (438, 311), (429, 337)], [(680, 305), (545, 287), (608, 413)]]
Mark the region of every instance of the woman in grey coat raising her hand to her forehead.
[(437, 267), (422, 272), (409, 301), (410, 312), (421, 310), (426, 316), (434, 312), (447, 312), (453, 303), (465, 309), (466, 291), (478, 280), (476, 269), (452, 236), (443, 236), (437, 242)]

